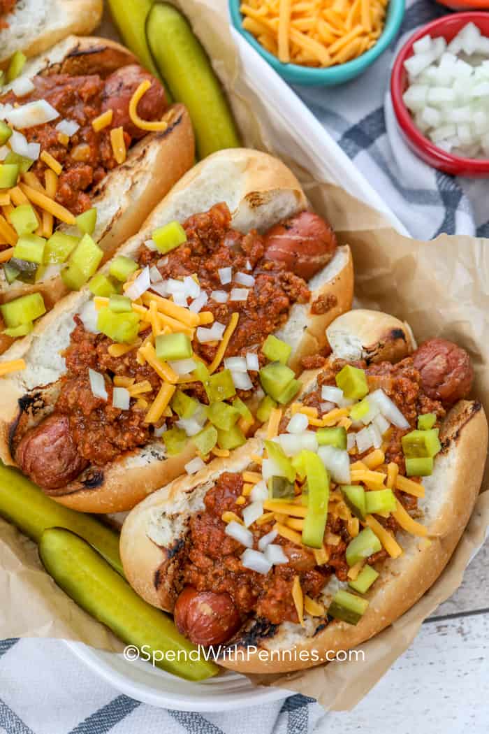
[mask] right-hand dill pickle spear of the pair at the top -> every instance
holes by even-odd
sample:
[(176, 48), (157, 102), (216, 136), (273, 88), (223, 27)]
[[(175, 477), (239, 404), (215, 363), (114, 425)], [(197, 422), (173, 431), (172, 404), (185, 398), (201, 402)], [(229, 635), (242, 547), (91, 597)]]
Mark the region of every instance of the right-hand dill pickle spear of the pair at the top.
[(194, 123), (199, 158), (223, 148), (239, 148), (221, 84), (188, 21), (172, 5), (157, 3), (147, 17), (146, 34), (172, 97), (185, 104)]

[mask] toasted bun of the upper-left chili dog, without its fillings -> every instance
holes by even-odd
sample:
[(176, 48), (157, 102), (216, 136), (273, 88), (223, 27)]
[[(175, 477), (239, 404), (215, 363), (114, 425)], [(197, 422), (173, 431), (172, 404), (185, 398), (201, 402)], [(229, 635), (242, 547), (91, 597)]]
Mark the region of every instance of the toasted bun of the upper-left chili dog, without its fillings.
[[(114, 41), (86, 37), (70, 37), (51, 48), (47, 54), (32, 59), (24, 73), (32, 77), (48, 70), (82, 75), (98, 73), (109, 76), (118, 68), (133, 64), (136, 57)], [(161, 201), (194, 162), (194, 132), (188, 112), (182, 104), (174, 104), (166, 112), (169, 126), (165, 131), (149, 133), (128, 150), (125, 162), (107, 172), (92, 193), (97, 208), (97, 224), (93, 238), (104, 251), (103, 261), (141, 227), (150, 211)], [(75, 227), (59, 225), (56, 230), (79, 235)], [(28, 293), (43, 294), (50, 309), (67, 294), (60, 275), (41, 278), (37, 283), (7, 283), (0, 271), (0, 303)], [(0, 334), (0, 353), (12, 339)]]

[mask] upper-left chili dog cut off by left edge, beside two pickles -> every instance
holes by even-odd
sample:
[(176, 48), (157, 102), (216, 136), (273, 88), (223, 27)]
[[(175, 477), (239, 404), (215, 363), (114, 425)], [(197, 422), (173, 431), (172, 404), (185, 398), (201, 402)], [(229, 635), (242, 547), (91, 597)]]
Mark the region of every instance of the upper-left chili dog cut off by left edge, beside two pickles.
[(139, 229), (191, 167), (194, 136), (133, 54), (70, 37), (4, 88), (0, 142), (4, 351)]

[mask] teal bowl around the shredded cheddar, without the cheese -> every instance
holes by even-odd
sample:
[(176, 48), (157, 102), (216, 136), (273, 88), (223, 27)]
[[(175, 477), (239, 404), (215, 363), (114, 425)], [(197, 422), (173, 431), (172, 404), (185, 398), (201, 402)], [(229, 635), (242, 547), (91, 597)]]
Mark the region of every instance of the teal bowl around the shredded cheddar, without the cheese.
[(263, 48), (251, 33), (243, 29), (241, 24), (243, 16), (240, 13), (240, 0), (229, 0), (229, 11), (235, 29), (246, 38), (248, 43), (251, 43), (251, 46), (273, 66), (285, 81), (289, 81), (290, 84), (301, 84), (304, 87), (334, 87), (336, 84), (343, 84), (345, 81), (350, 81), (350, 79), (354, 79), (356, 76), (364, 73), (373, 64), (375, 59), (390, 46), (397, 36), (397, 32), (399, 32), (402, 18), (404, 18), (405, 0), (389, 1), (386, 25), (375, 46), (372, 46), (364, 54), (361, 54), (358, 59), (353, 59), (353, 61), (347, 61), (344, 64), (331, 66), (326, 69), (309, 68), (297, 64), (282, 64), (279, 59)]

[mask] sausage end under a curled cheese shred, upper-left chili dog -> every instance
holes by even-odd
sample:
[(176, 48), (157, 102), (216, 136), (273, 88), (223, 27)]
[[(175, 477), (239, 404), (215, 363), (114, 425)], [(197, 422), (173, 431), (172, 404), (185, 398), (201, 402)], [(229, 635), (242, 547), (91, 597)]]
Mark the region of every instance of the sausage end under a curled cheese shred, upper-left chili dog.
[(111, 109), (114, 113), (111, 127), (122, 126), (124, 131), (135, 139), (143, 137), (146, 131), (130, 121), (129, 103), (139, 84), (145, 79), (151, 82), (151, 87), (138, 104), (138, 115), (143, 120), (160, 120), (167, 107), (165, 90), (154, 76), (138, 64), (122, 66), (111, 73), (103, 90), (102, 112)]

